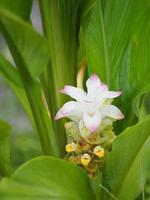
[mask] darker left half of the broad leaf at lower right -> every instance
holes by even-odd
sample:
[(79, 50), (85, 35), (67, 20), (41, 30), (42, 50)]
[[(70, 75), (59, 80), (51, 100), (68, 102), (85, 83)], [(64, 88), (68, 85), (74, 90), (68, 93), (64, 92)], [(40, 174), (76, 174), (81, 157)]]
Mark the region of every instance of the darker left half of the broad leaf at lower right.
[[(129, 174), (134, 169), (134, 162), (144, 148), (150, 134), (149, 123), (150, 117), (147, 117), (142, 122), (124, 130), (114, 141), (112, 151), (108, 153), (104, 176), (108, 188), (119, 199), (122, 192), (129, 185), (132, 186)], [(135, 166), (137, 167), (137, 165)], [(136, 179), (136, 181), (138, 180)], [(135, 195), (134, 192), (133, 189)], [(127, 197), (122, 198), (126, 199)]]

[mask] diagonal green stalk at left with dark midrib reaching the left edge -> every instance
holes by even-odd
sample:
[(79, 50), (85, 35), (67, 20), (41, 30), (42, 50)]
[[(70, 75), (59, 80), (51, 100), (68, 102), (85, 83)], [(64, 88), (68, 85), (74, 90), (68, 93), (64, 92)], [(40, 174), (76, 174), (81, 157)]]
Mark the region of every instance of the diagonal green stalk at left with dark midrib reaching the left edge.
[(1, 24), (1, 26), (3, 27), (4, 37), (22, 79), (43, 152), (46, 155), (58, 156), (59, 149), (56, 135), (53, 130), (52, 120), (48, 116), (48, 112), (42, 100), (41, 85), (37, 82), (37, 80), (33, 80), (28, 71), (26, 61), (22, 57), (22, 54), (14, 43), (11, 35), (9, 35), (9, 32), (5, 29), (3, 24)]

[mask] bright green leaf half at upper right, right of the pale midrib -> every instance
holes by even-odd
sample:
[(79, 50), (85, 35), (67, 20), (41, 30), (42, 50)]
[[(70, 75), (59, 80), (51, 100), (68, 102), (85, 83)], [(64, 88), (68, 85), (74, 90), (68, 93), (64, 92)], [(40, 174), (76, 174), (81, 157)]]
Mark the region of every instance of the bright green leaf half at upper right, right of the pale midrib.
[[(123, 62), (123, 55), (126, 47), (132, 38), (135, 43), (137, 30), (147, 35), (149, 29), (149, 2), (147, 0), (109, 0), (104, 10), (104, 22), (106, 27), (106, 40), (109, 56), (110, 83), (111, 88), (118, 86), (120, 65)], [(141, 35), (141, 34), (140, 34)], [(135, 36), (135, 37), (134, 37)], [(147, 39), (145, 38), (145, 41)], [(145, 43), (143, 44), (145, 46)], [(144, 48), (147, 48), (144, 47)], [(147, 58), (143, 58), (143, 60)], [(141, 63), (142, 64), (142, 63)], [(134, 63), (136, 69), (137, 63)], [(141, 71), (143, 73), (143, 71)], [(145, 72), (144, 72), (145, 73)], [(139, 75), (139, 74), (138, 74)], [(137, 76), (134, 77), (138, 81)]]

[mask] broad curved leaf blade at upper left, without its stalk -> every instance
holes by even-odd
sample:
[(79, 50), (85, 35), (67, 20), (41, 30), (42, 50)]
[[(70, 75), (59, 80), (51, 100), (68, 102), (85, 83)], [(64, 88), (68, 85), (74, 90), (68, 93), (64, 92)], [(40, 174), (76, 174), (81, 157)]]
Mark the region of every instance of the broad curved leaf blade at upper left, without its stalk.
[(0, 24), (17, 67), (36, 79), (49, 60), (46, 40), (30, 24), (5, 9), (0, 9)]

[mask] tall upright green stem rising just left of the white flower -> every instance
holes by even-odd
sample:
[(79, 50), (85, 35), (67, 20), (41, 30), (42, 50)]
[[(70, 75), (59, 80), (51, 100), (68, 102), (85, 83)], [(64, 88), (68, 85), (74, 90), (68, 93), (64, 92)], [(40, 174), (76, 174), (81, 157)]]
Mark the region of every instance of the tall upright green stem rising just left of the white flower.
[[(39, 6), (42, 17), (43, 31), (48, 39), (50, 46), (51, 62), (47, 66), (47, 98), (51, 108), (51, 115), (54, 116), (65, 102), (64, 96), (59, 94), (59, 89), (65, 84), (67, 71), (67, 60), (64, 53), (63, 41), (61, 38), (61, 27), (57, 16), (55, 1), (39, 0)], [(56, 37), (58, 35), (58, 37)], [(57, 39), (56, 39), (57, 38)], [(58, 41), (59, 40), (59, 41)], [(66, 67), (67, 66), (67, 67)], [(65, 74), (65, 76), (64, 76)], [(57, 141), (59, 142), (60, 152), (63, 156), (66, 137), (64, 133), (63, 121), (54, 123), (55, 132), (57, 133)]]

